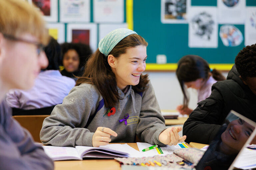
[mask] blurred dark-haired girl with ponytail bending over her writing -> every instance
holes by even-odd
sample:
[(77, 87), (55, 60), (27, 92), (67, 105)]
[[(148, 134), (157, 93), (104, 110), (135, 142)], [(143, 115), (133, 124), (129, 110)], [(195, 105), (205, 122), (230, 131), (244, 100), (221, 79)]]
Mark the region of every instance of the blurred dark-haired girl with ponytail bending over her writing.
[(183, 115), (189, 115), (193, 111), (188, 108), (187, 88), (198, 90), (198, 102), (200, 102), (210, 96), (214, 83), (226, 79), (220, 71), (210, 69), (207, 61), (198, 55), (183, 56), (178, 62), (176, 75), (184, 95), (183, 105), (179, 105), (177, 110)]

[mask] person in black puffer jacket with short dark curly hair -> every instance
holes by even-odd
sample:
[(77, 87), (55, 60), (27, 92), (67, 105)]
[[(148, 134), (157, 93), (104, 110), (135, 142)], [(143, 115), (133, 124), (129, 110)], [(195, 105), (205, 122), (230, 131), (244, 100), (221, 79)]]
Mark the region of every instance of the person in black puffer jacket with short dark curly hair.
[(212, 86), (211, 95), (198, 103), (183, 126), (187, 142), (208, 144), (230, 110), (256, 121), (256, 44), (243, 48), (227, 80)]

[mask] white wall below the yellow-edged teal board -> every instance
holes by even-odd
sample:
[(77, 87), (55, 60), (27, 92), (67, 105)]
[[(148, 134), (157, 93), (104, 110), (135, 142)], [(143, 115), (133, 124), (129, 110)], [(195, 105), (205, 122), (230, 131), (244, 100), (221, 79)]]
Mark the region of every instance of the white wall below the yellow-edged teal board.
[[(149, 75), (149, 79), (154, 87), (156, 98), (162, 110), (175, 110), (183, 103), (183, 94), (175, 72), (144, 72)], [(226, 77), (227, 72), (222, 72)], [(189, 108), (197, 106), (197, 91), (188, 89), (190, 94)]]

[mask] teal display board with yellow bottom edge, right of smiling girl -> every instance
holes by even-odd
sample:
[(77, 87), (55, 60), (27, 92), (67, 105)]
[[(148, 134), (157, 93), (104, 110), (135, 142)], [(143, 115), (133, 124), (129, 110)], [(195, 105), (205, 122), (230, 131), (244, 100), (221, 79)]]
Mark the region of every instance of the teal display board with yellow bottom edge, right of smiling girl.
[[(222, 3), (224, 3), (223, 0), (221, 1)], [(242, 13), (244, 13), (244, 17), (245, 17), (245, 14), (247, 12), (247, 9), (243, 10), (243, 6), (246, 6), (246, 8), (256, 7), (255, 0), (238, 0), (238, 1), (239, 2), (236, 5), (238, 6), (240, 5), (242, 7), (240, 10), (241, 15), (239, 15), (239, 18), (240, 16), (241, 17), (243, 16)], [(173, 2), (173, 1), (170, 0), (170, 2)], [(191, 39), (189, 38), (189, 31), (190, 31), (189, 29), (192, 26), (190, 25), (189, 21), (187, 23), (162, 23), (161, 17), (163, 14), (163, 10), (162, 10), (163, 0), (161, 2), (148, 1), (148, 0), (134, 1), (133, 3), (134, 31), (137, 32), (139, 35), (141, 35), (143, 38), (145, 38), (146, 41), (148, 42), (147, 70), (173, 71), (177, 68), (178, 60), (182, 56), (188, 55), (188, 54), (199, 55), (204, 59), (206, 59), (210, 64), (217, 64), (219, 66), (219, 67), (216, 67), (217, 69), (230, 70), (230, 68), (234, 64), (234, 59), (236, 55), (241, 49), (243, 49), (243, 47), (245, 47), (244, 44), (247, 39), (245, 37), (245, 35), (247, 34), (245, 32), (245, 28), (247, 28), (245, 23), (246, 18), (243, 18), (242, 22), (239, 21), (239, 24), (238, 22), (230, 23), (231, 19), (230, 20), (228, 19), (227, 23), (221, 24), (218, 20), (218, 17), (219, 17), (218, 15), (219, 1), (218, 0), (214, 0), (214, 1), (187, 0), (186, 2), (190, 3), (190, 7), (187, 8), (188, 11), (186, 14), (188, 20), (190, 18), (189, 11), (191, 8), (194, 8), (194, 7), (201, 7), (205, 9), (208, 9), (208, 7), (216, 8), (215, 11), (217, 14), (215, 16), (217, 17), (216, 19), (217, 27), (214, 26), (214, 28), (216, 28), (216, 31), (214, 32), (214, 35), (213, 35), (214, 36), (213, 39), (215, 42), (212, 43), (211, 45), (206, 43), (206, 44), (201, 44), (202, 46), (199, 46), (196, 43), (200, 43), (200, 41), (196, 42), (195, 44), (191, 43)], [(228, 1), (225, 1), (225, 3), (227, 2)], [(236, 9), (236, 5), (234, 4), (233, 7), (230, 7), (230, 9)], [(206, 12), (208, 11), (209, 10), (206, 10)], [(233, 12), (233, 10), (229, 12)], [(223, 15), (223, 17), (226, 17), (226, 16)], [(213, 20), (215, 21), (215, 19)], [(248, 18), (247, 20), (249, 23)], [(201, 19), (198, 20), (198, 22), (202, 22)], [(243, 36), (243, 40), (240, 39), (240, 41), (242, 40), (242, 42), (240, 44), (235, 43), (237, 46), (224, 45), (224, 43), (221, 40), (221, 36), (219, 34), (220, 28), (223, 25), (231, 25), (237, 28), (237, 30), (239, 30)], [(254, 31), (254, 30), (252, 29), (251, 31)], [(253, 38), (253, 41), (254, 41), (254, 36), (248, 36), (248, 39), (250, 39), (251, 37)], [(252, 44), (252, 42), (248, 42), (248, 43), (250, 43), (250, 45)], [(194, 47), (196, 45), (197, 47)], [(209, 45), (211, 47), (206, 47), (206, 45), (207, 46)], [(166, 56), (166, 61), (167, 61), (166, 64), (157, 64), (157, 56), (159, 56), (159, 54)]]

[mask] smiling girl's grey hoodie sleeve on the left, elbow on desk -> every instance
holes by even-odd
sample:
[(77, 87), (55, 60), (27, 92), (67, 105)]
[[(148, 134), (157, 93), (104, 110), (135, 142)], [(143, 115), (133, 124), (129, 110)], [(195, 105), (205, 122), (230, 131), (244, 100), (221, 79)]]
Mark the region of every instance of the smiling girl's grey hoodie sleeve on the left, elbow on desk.
[(95, 112), (97, 96), (99, 94), (92, 85), (74, 87), (63, 103), (56, 105), (51, 116), (44, 120), (40, 132), (42, 143), (54, 146), (92, 146), (94, 133), (84, 127), (90, 115)]

